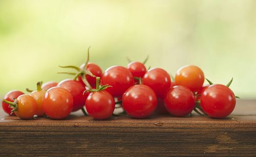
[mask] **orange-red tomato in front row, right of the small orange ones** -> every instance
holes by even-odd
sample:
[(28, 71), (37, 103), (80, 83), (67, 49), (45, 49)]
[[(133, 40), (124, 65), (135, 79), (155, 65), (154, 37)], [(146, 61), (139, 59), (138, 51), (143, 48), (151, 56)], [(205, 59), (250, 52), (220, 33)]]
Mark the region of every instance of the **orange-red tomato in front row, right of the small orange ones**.
[(73, 110), (73, 96), (61, 87), (52, 87), (42, 100), (42, 110), (52, 119), (63, 119)]

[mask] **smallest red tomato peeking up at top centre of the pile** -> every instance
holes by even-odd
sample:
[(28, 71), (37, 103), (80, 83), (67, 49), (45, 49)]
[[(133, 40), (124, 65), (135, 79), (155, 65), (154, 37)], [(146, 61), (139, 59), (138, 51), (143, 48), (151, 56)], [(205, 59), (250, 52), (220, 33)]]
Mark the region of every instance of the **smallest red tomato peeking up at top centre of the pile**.
[(146, 73), (146, 67), (140, 62), (131, 62), (127, 65), (127, 69), (134, 77), (143, 77)]

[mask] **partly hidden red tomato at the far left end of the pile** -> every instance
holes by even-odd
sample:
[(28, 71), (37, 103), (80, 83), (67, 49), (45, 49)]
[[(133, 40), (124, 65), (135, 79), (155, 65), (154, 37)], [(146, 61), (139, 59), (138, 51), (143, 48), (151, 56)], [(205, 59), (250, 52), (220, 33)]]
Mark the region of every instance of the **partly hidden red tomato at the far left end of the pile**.
[[(6, 99), (7, 101), (11, 101), (13, 102), (13, 98), (17, 98), (19, 95), (23, 95), (24, 93), (23, 92), (20, 92), (20, 91), (17, 91), (17, 90), (12, 90), (10, 92), (8, 92), (4, 99)], [(6, 102), (2, 102), (2, 107), (4, 109), (4, 111), (9, 114), (10, 116), (15, 116), (15, 113), (12, 113), (11, 114), (11, 108), (9, 108), (9, 104), (6, 103)]]

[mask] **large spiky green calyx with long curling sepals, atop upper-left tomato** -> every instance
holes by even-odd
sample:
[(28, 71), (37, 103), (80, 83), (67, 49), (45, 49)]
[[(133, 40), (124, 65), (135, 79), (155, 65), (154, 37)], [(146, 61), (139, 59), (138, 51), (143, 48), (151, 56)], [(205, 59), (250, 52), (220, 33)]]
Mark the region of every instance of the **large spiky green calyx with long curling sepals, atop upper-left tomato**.
[(83, 81), (83, 83), (89, 87), (89, 88), (92, 88), (91, 85), (89, 84), (89, 82), (87, 81), (85, 75), (90, 75), (92, 77), (96, 77), (94, 74), (92, 74), (91, 71), (87, 70), (86, 67), (89, 63), (89, 60), (90, 60), (90, 47), (88, 47), (88, 52), (87, 52), (87, 60), (86, 62), (84, 63), (84, 66), (82, 69), (80, 69), (79, 67), (77, 66), (73, 66), (73, 65), (69, 65), (69, 66), (59, 66), (61, 68), (71, 68), (71, 69), (75, 69), (77, 72), (58, 72), (58, 73), (62, 73), (62, 74), (69, 74), (69, 75), (74, 75), (74, 80), (77, 80), (77, 77), (78, 76), (81, 76), (81, 79)]

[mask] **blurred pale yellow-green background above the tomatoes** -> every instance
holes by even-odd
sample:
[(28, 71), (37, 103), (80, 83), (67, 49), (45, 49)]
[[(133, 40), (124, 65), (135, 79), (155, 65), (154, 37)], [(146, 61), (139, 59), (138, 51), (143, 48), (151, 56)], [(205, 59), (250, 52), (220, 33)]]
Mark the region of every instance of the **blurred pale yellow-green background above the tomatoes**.
[(58, 65), (105, 70), (125, 57), (175, 73), (198, 65), (214, 83), (256, 98), (256, 1), (0, 0), (0, 95), (68, 75)]

